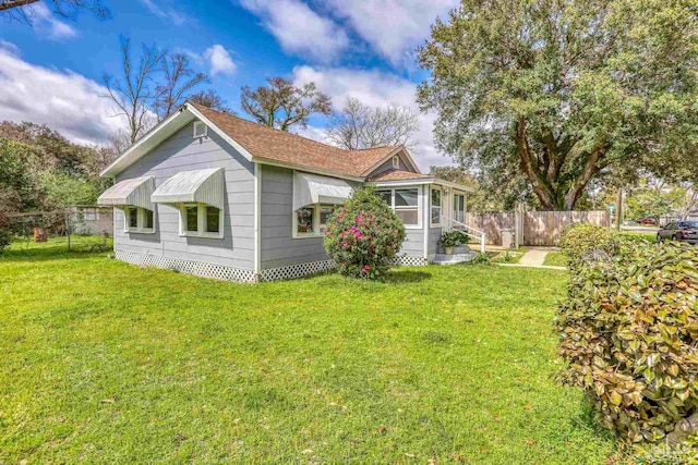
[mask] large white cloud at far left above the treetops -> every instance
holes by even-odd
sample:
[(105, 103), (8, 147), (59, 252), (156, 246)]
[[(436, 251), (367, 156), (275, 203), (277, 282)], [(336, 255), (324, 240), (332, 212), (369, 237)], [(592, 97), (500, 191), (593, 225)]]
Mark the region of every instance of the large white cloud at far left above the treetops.
[(0, 120), (46, 124), (80, 144), (106, 143), (127, 126), (106, 94), (81, 74), (37, 66), (0, 48)]

